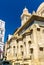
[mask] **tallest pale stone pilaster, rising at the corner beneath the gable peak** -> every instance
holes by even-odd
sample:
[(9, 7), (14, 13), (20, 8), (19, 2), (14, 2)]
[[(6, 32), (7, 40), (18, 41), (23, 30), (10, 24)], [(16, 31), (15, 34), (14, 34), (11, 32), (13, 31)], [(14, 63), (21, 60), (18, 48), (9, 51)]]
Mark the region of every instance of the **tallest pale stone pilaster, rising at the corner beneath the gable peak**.
[(34, 64), (35, 65), (39, 65), (39, 58), (38, 58), (38, 54), (39, 54), (39, 47), (38, 47), (38, 42), (37, 42), (37, 30), (36, 28), (33, 29), (33, 55), (34, 55)]

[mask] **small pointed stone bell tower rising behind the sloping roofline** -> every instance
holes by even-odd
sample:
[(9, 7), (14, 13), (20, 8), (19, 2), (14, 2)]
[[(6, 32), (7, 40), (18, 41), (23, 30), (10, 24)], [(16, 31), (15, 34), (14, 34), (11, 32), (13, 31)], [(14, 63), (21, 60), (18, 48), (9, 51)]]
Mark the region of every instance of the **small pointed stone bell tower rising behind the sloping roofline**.
[(21, 15), (21, 26), (25, 24), (25, 22), (29, 19), (30, 16), (31, 16), (31, 13), (29, 13), (28, 9), (25, 7)]

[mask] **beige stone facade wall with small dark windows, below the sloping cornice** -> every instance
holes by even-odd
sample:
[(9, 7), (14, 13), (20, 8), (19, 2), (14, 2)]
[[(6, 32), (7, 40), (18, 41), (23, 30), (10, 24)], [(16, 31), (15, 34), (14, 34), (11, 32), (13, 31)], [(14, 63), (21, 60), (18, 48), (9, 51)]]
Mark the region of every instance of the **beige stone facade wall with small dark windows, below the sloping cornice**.
[[(41, 46), (41, 43), (44, 43), (43, 29), (42, 27), (37, 28), (33, 25), (33, 28), (29, 30), (30, 32), (23, 34), (23, 38), (12, 39), (10, 44), (6, 45), (6, 48), (10, 46), (10, 48), (5, 51), (7, 53), (7, 60), (14, 60), (13, 64), (17, 62), (29, 65), (39, 65), (40, 62), (42, 64), (44, 61), (43, 44)], [(42, 51), (40, 51), (40, 47), (43, 48)]]

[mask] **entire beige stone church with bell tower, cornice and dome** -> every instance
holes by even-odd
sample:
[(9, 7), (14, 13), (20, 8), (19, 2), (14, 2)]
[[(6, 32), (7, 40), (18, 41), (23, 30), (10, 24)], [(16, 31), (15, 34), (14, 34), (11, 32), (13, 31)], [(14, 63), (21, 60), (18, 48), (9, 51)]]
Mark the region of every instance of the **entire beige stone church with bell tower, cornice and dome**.
[(44, 2), (32, 14), (23, 10), (21, 27), (5, 44), (5, 56), (12, 65), (44, 65)]

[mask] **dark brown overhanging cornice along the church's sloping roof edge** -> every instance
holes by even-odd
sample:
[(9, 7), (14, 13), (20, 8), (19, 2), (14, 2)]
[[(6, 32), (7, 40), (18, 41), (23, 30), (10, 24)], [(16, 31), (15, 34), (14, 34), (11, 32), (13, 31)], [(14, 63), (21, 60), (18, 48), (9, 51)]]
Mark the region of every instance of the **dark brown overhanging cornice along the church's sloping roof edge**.
[(29, 23), (31, 23), (34, 20), (43, 21), (44, 22), (44, 17), (43, 16), (39, 16), (37, 14), (32, 14), (30, 16), (30, 18), (28, 19), (28, 21), (23, 26), (21, 26), (13, 35), (18, 34), (21, 30), (23, 30)]

